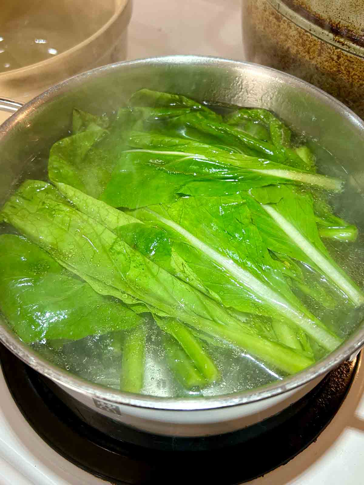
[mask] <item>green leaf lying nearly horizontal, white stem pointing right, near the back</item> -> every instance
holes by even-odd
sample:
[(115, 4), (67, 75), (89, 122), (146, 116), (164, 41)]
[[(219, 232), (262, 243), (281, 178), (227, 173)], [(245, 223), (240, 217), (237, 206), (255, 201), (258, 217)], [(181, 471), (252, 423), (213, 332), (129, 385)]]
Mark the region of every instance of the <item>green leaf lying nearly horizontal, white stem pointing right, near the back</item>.
[[(206, 150), (199, 147), (198, 151)], [(224, 159), (184, 151), (133, 149), (125, 151), (116, 163), (100, 199), (113, 207), (134, 209), (173, 202), (178, 194), (231, 195), (279, 182), (341, 190), (336, 179), (287, 170), (284, 165), (257, 158)]]

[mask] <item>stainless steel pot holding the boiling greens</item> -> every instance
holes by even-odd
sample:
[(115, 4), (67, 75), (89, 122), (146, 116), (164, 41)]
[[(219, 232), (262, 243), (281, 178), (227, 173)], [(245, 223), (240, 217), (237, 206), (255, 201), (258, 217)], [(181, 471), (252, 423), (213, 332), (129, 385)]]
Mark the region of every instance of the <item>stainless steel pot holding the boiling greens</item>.
[[(223, 59), (176, 56), (103, 66), (50, 88), (0, 126), (0, 200), (4, 201), (26, 162), (66, 136), (73, 107), (94, 113), (115, 110), (136, 89), (182, 93), (200, 101), (265, 107), (289, 125), (320, 140), (364, 186), (364, 123), (323, 91), (274, 69)], [(350, 150), (347, 147), (350, 147)], [(360, 182), (362, 180), (362, 182)], [(204, 399), (157, 398), (103, 388), (57, 368), (23, 344), (4, 321), (0, 340), (38, 372), (98, 412), (153, 433), (201, 436), (242, 428), (296, 401), (323, 376), (364, 345), (359, 328), (331, 355), (283, 381)]]

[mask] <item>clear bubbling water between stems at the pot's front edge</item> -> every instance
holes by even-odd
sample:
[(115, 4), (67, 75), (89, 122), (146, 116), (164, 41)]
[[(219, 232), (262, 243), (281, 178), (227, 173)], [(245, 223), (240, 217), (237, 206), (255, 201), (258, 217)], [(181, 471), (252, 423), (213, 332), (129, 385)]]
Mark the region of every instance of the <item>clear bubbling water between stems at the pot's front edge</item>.
[[(151, 320), (146, 345), (143, 394), (159, 397), (215, 396), (253, 389), (282, 379), (283, 374), (233, 348), (210, 345), (221, 379), (203, 389), (186, 390), (168, 368), (161, 331)], [(123, 332), (89, 336), (81, 340), (34, 345), (34, 349), (58, 366), (103, 386), (120, 389)]]

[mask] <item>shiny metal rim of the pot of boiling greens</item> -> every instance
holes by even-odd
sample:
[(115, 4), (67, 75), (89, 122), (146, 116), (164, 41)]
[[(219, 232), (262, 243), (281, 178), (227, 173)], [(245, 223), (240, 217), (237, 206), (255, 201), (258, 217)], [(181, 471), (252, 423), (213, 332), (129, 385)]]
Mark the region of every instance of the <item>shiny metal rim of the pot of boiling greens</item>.
[[(138, 64), (156, 65), (156, 64), (175, 64), (175, 65), (235, 65), (239, 68), (245, 69), (259, 69), (267, 74), (274, 74), (280, 81), (293, 82), (296, 85), (301, 85), (313, 92), (316, 97), (324, 99), (327, 103), (333, 105), (337, 111), (342, 115), (350, 118), (350, 122), (359, 126), (364, 132), (364, 122), (353, 113), (347, 106), (325, 93), (321, 89), (302, 81), (295, 76), (283, 73), (277, 69), (266, 67), (246, 61), (234, 61), (212, 56), (195, 56), (195, 55), (175, 55), (164, 57), (152, 57), (146, 59), (137, 59), (134, 61), (119, 62), (109, 64), (101, 67), (96, 67), (84, 73), (73, 76), (66, 81), (62, 81), (50, 87), (44, 93), (35, 97), (33, 100), (21, 107), (17, 113), (10, 116), (0, 126), (0, 143), (1, 139), (6, 136), (7, 132), (15, 129), (17, 125), (24, 122), (28, 113), (36, 110), (40, 105), (47, 103), (48, 100), (57, 97), (61, 94), (66, 94), (69, 90), (69, 85), (77, 85), (82, 83), (83, 79), (89, 76), (97, 77), (103, 72), (116, 69), (123, 65), (134, 66)], [(243, 392), (232, 394), (225, 394), (213, 397), (203, 398), (183, 398), (176, 399), (171, 397), (155, 397), (142, 394), (134, 394), (116, 389), (105, 388), (99, 384), (92, 383), (81, 377), (77, 377), (66, 370), (55, 366), (41, 356), (38, 356), (27, 344), (23, 343), (16, 334), (7, 327), (7, 324), (0, 323), (0, 341), (16, 356), (30, 365), (33, 369), (41, 374), (49, 377), (62, 386), (78, 391), (82, 394), (88, 395), (91, 398), (109, 401), (115, 404), (123, 404), (134, 407), (142, 407), (165, 411), (198, 411), (207, 409), (216, 409), (231, 407), (240, 404), (248, 404), (257, 401), (262, 401), (279, 394), (294, 390), (300, 386), (307, 384), (309, 381), (324, 376), (327, 372), (337, 367), (341, 362), (347, 359), (352, 359), (360, 351), (364, 345), (364, 326), (359, 327), (353, 335), (351, 335), (340, 347), (331, 352), (328, 356), (316, 362), (312, 366), (304, 369), (297, 374), (284, 378), (282, 381), (276, 381), (273, 384)]]

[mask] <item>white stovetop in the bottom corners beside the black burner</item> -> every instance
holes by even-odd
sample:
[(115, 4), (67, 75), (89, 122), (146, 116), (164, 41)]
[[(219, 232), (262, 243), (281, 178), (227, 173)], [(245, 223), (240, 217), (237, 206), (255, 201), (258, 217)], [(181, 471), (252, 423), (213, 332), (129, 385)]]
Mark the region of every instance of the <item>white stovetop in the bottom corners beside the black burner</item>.
[[(250, 484), (363, 484), (363, 390), (362, 365), (347, 399), (317, 441), (287, 465), (253, 480)], [(77, 468), (58, 455), (33, 431), (14, 404), (2, 375), (0, 396), (1, 485), (106, 485), (103, 480)], [(241, 466), (244, 466), (244, 457), (242, 459)], [(264, 456), (257, 459), (264, 459)]]

